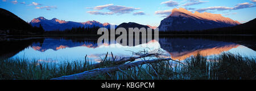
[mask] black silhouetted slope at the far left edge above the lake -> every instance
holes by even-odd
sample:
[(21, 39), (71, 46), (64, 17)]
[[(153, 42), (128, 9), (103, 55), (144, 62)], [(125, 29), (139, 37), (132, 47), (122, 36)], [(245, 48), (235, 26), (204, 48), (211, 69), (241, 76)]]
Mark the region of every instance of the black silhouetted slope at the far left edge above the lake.
[(10, 11), (0, 8), (0, 34), (35, 34), (43, 33), (42, 28), (32, 27)]

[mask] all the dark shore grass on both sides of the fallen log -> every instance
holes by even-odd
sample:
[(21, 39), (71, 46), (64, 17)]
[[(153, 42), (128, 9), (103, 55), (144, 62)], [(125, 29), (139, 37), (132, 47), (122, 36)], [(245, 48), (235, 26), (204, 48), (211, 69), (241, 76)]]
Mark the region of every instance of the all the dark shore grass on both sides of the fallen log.
[[(101, 68), (113, 66), (111, 58), (106, 58)], [(184, 65), (171, 61), (100, 74), (95, 79), (112, 80), (255, 80), (255, 58), (242, 57), (239, 54), (222, 53), (211, 58), (200, 54), (184, 60)], [(26, 59), (0, 59), (0, 79), (51, 79), (93, 70), (89, 61), (47, 63)]]

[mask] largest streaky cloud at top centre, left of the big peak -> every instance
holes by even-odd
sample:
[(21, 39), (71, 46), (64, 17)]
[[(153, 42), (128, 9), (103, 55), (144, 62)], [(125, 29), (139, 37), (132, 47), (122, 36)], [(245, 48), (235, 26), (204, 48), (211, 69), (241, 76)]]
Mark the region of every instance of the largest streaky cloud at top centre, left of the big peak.
[[(91, 8), (91, 7), (86, 7)], [(133, 12), (134, 10), (140, 10), (141, 8), (134, 8), (134, 7), (126, 7), (126, 6), (118, 6), (114, 4), (108, 4), (108, 5), (102, 5), (102, 6), (96, 6), (93, 8), (93, 10), (103, 10), (103, 9), (109, 10), (109, 12), (99, 12), (99, 11), (89, 11), (90, 14), (97, 14), (97, 15), (113, 15), (113, 14), (129, 14)]]

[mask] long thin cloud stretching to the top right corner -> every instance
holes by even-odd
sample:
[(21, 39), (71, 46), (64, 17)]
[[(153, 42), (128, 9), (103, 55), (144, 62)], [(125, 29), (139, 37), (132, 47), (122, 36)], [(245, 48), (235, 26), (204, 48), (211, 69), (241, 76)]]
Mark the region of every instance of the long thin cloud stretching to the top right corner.
[(203, 12), (207, 10), (238, 10), (238, 9), (249, 8), (249, 7), (255, 7), (255, 6), (253, 5), (253, 3), (245, 2), (245, 3), (237, 4), (234, 7), (214, 6), (214, 7), (200, 8), (196, 11)]

